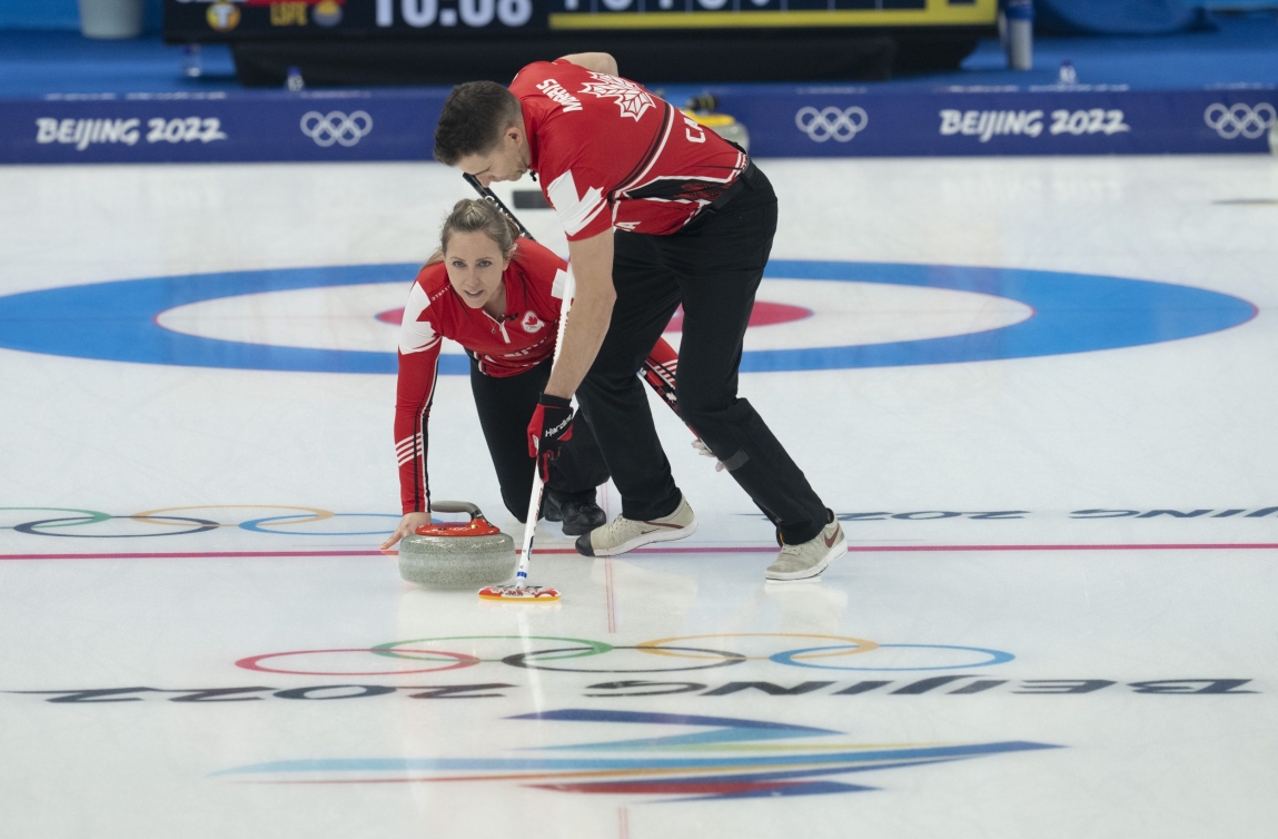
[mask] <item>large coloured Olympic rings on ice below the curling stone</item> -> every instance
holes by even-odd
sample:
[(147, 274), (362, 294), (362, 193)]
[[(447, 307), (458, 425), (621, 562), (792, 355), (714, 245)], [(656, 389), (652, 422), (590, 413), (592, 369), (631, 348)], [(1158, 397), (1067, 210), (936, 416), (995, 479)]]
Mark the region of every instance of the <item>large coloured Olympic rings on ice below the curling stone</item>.
[[(700, 646), (682, 646), (689, 641), (697, 641), (703, 638), (721, 638), (721, 639), (751, 639), (751, 646), (764, 646), (760, 639), (769, 639), (776, 643), (771, 646), (780, 646), (781, 643), (794, 643), (795, 638), (819, 638), (823, 641), (836, 641), (840, 643), (824, 645), (815, 647), (797, 647), (781, 651), (767, 651), (764, 655), (757, 655), (754, 650), (735, 651), (735, 650), (716, 650)], [(553, 646), (544, 648), (530, 648), (530, 642), (544, 641), (551, 642)], [(441, 648), (441, 645), (452, 647), (451, 650)], [(561, 646), (570, 645), (570, 646)], [(717, 645), (722, 646), (722, 645)], [(847, 657), (858, 656), (873, 652), (875, 650), (888, 650), (888, 648), (910, 648), (910, 650), (942, 650), (943, 659), (937, 664), (938, 659), (927, 660), (919, 665), (902, 666), (900, 664), (884, 663), (882, 666), (874, 666), (874, 659), (855, 659), (856, 665), (852, 664), (833, 664), (824, 661), (824, 659), (832, 657)], [(947, 660), (952, 659), (952, 652), (962, 654), (975, 654), (982, 656), (979, 661), (964, 661), (960, 660), (957, 664), (948, 664)], [(431, 666), (427, 669), (404, 669), (404, 670), (378, 670), (378, 671), (366, 671), (360, 669), (359, 671), (312, 671), (312, 670), (284, 670), (277, 668), (265, 666), (261, 663), (282, 657), (282, 656), (300, 656), (300, 655), (330, 655), (330, 654), (351, 654), (351, 652), (371, 652), (377, 656), (389, 659), (400, 659), (413, 663), (427, 663), (431, 665), (443, 665), (443, 666)], [(579, 664), (581, 659), (596, 659), (598, 656), (615, 654), (615, 652), (630, 652), (643, 654), (649, 657), (652, 666), (621, 666), (624, 664), (624, 655), (620, 656), (616, 664), (617, 666), (587, 666), (584, 663)], [(672, 663), (674, 666), (662, 666), (661, 659), (693, 659), (694, 664)], [(270, 652), (265, 655), (249, 656), (247, 659), (240, 659), (235, 663), (235, 666), (244, 668), (245, 670), (259, 670), (265, 673), (289, 673), (295, 675), (403, 675), (412, 673), (435, 673), (443, 670), (460, 670), (464, 668), (475, 666), (479, 664), (504, 664), (511, 668), (519, 668), (521, 670), (546, 670), (552, 673), (583, 673), (583, 674), (638, 674), (638, 673), (688, 673), (691, 670), (711, 670), (717, 668), (727, 668), (737, 664), (744, 664), (746, 661), (767, 661), (772, 664), (780, 664), (785, 666), (796, 668), (814, 668), (820, 670), (865, 670), (865, 671), (909, 671), (909, 670), (962, 670), (970, 668), (989, 668), (999, 664), (1007, 664), (1012, 661), (1016, 656), (1011, 652), (1003, 650), (990, 650), (987, 647), (967, 647), (956, 645), (939, 645), (939, 643), (879, 643), (875, 641), (868, 641), (865, 638), (851, 638), (845, 636), (826, 636), (826, 634), (796, 634), (796, 633), (720, 633), (720, 634), (700, 634), (700, 636), (681, 636), (672, 638), (657, 638), (654, 641), (644, 641), (638, 645), (612, 645), (604, 641), (592, 641), (589, 638), (565, 638), (556, 636), (443, 636), (437, 638), (415, 638), (412, 641), (392, 641), (389, 643), (380, 643), (372, 647), (353, 647), (341, 650), (294, 650), (289, 652)], [(864, 661), (864, 665), (860, 664)], [(631, 661), (630, 664), (638, 664)], [(406, 665), (405, 665), (406, 666)]]

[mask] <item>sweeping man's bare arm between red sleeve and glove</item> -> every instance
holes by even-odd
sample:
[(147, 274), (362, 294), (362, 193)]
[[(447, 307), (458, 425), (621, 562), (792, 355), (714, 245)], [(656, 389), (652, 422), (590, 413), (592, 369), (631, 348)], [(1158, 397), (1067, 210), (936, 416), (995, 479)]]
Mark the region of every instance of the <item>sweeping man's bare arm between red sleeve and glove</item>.
[[(602, 54), (601, 54), (602, 55)], [(569, 262), (576, 279), (576, 295), (564, 329), (564, 347), (546, 382), (546, 393), (570, 399), (594, 363), (603, 336), (608, 334), (612, 304), (612, 230), (567, 243)]]

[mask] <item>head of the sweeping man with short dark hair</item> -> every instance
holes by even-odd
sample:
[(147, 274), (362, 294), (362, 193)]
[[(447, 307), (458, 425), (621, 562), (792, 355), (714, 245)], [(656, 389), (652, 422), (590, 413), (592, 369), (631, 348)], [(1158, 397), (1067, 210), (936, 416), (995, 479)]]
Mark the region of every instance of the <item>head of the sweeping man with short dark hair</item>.
[(435, 127), (435, 159), (484, 187), (523, 178), (530, 155), (519, 100), (496, 82), (454, 87)]

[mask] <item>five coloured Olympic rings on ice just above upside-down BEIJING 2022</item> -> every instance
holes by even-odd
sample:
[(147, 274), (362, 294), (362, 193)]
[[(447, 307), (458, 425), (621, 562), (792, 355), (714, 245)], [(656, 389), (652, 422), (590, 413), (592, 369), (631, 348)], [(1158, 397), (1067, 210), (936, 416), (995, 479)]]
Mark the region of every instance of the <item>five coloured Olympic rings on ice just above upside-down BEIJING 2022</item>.
[[(670, 646), (671, 642), (688, 641), (695, 638), (824, 638), (832, 641), (842, 641), (847, 643), (826, 645), (819, 647), (803, 647), (799, 650), (786, 650), (782, 652), (774, 652), (772, 655), (751, 656), (743, 652), (732, 652), (725, 650), (708, 650), (704, 647), (685, 647), (685, 646)], [(441, 642), (450, 641), (470, 641), (470, 642), (521, 642), (519, 646), (527, 646), (532, 641), (557, 641), (569, 643), (573, 646), (565, 647), (552, 647), (547, 650), (521, 650), (519, 652), (512, 652), (509, 655), (496, 655), (493, 657), (484, 657), (473, 650), (475, 645), (472, 646), (470, 652), (452, 652), (447, 650), (437, 650), (436, 645)], [(413, 648), (408, 648), (413, 647)], [(971, 664), (923, 664), (921, 666), (840, 666), (835, 664), (824, 664), (814, 661), (814, 659), (828, 659), (836, 656), (850, 656), (872, 652), (874, 650), (888, 650), (888, 648), (918, 648), (918, 650), (957, 650), (964, 652), (975, 652), (982, 656), (987, 656), (982, 661)], [(677, 659), (694, 659), (702, 663), (693, 664), (691, 666), (676, 666), (676, 668), (583, 668), (583, 666), (560, 666), (552, 665), (550, 663), (567, 663), (573, 659), (588, 659), (593, 656), (604, 655), (616, 650), (634, 650), (636, 652), (657, 656), (670, 656)], [(447, 666), (429, 668), (423, 670), (391, 670), (386, 673), (309, 673), (300, 670), (280, 670), (272, 668), (261, 666), (259, 663), (276, 656), (294, 656), (294, 655), (320, 655), (330, 652), (372, 652), (373, 655), (390, 657), (390, 659), (404, 659), (415, 663), (431, 663), (431, 664), (446, 664)], [(727, 668), (736, 664), (744, 664), (745, 661), (768, 661), (772, 664), (796, 666), (796, 668), (813, 668), (818, 670), (864, 670), (864, 671), (910, 671), (910, 670), (964, 670), (971, 668), (988, 668), (999, 664), (1007, 664), (1015, 660), (1016, 656), (1011, 652), (1003, 650), (990, 650), (987, 647), (969, 647), (957, 645), (941, 645), (941, 643), (879, 643), (875, 641), (868, 641), (865, 638), (851, 638), (845, 636), (824, 636), (824, 634), (806, 634), (806, 633), (767, 633), (767, 632), (750, 632), (750, 633), (718, 633), (718, 634), (700, 634), (700, 636), (682, 636), (674, 638), (658, 638), (656, 641), (645, 641), (635, 646), (619, 646), (611, 645), (606, 641), (590, 641), (588, 638), (566, 638), (560, 636), (442, 636), (436, 638), (415, 638), (413, 641), (392, 641), (390, 643), (380, 643), (372, 647), (357, 647), (349, 650), (294, 650), (291, 652), (272, 652), (266, 655), (250, 656), (247, 659), (240, 659), (235, 663), (236, 666), (248, 670), (261, 670), (265, 673), (290, 673), (299, 675), (400, 675), (406, 673), (435, 673), (443, 670), (456, 670), (461, 668), (474, 666), (477, 664), (504, 664), (511, 668), (519, 668), (521, 670), (547, 670), (552, 673), (587, 673), (587, 674), (626, 674), (626, 673), (686, 673), (690, 670), (712, 670), (716, 668)], [(944, 659), (942, 659), (943, 661)], [(709, 661), (705, 664), (704, 661)]]

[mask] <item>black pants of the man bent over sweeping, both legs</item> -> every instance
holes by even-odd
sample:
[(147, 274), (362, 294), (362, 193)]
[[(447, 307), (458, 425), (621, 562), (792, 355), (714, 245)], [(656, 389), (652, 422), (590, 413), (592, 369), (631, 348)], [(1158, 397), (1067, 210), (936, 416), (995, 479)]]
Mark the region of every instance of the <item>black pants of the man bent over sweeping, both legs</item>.
[(684, 304), (676, 391), (684, 422), (725, 463), (786, 544), (815, 537), (826, 506), (763, 418), (736, 395), (741, 341), (772, 251), (777, 197), (758, 169), (723, 207), (671, 235), (613, 234), (617, 301), (578, 389), (630, 519), (668, 515), (680, 492), (635, 375)]

